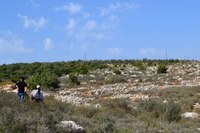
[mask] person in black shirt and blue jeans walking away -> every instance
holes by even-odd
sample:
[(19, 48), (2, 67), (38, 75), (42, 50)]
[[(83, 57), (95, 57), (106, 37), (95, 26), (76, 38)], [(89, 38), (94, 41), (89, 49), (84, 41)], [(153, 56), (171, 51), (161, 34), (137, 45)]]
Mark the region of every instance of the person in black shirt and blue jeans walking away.
[(17, 94), (19, 97), (20, 102), (24, 101), (24, 96), (27, 91), (27, 84), (24, 81), (24, 78), (20, 78), (19, 81), (16, 83), (17, 86)]

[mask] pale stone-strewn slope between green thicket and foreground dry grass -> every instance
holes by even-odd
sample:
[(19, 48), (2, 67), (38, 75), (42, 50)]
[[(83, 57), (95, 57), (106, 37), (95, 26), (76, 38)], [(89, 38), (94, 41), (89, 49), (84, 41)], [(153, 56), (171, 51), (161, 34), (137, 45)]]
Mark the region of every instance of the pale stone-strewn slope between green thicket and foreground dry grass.
[[(157, 97), (143, 93), (148, 90), (200, 86), (200, 62), (168, 65), (166, 74), (157, 74), (157, 67), (139, 70), (131, 64), (111, 66), (92, 71), (89, 75), (79, 75), (81, 85), (75, 87), (66, 86), (69, 76), (65, 75), (61, 77), (62, 90), (55, 97), (75, 105), (100, 107), (99, 101), (103, 99), (126, 98), (134, 102), (137, 99)], [(121, 74), (115, 74), (113, 69), (120, 70)]]

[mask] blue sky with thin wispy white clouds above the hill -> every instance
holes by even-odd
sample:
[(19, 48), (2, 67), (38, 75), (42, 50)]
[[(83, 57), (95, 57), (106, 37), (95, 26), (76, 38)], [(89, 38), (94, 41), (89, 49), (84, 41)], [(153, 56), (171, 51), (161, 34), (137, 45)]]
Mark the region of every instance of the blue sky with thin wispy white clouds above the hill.
[(200, 60), (200, 0), (1, 0), (0, 64)]

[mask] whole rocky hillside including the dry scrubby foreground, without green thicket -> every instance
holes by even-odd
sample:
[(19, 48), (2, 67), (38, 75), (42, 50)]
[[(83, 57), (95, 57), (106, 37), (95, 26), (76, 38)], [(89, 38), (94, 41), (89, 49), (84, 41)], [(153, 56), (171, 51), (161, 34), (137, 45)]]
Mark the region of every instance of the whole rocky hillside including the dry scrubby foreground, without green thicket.
[[(5, 116), (0, 117), (0, 132), (200, 131), (198, 61), (108, 62), (85, 74), (62, 74), (59, 81), (56, 91), (44, 89), (46, 99), (40, 106), (29, 100), (19, 106), (16, 95), (0, 92)], [(10, 85), (1, 88), (13, 92)]]

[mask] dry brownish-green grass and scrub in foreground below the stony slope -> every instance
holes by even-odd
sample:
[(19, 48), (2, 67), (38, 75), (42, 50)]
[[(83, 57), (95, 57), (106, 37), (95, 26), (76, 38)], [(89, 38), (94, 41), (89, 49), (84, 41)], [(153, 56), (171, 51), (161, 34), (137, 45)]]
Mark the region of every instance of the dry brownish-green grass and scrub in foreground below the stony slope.
[[(199, 119), (183, 119), (199, 100), (199, 88), (169, 88), (146, 91), (160, 96), (150, 101), (129, 103), (126, 99), (106, 99), (102, 108), (73, 106), (46, 97), (39, 104), (29, 100), (19, 103), (16, 94), (0, 92), (0, 132), (62, 133), (55, 125), (72, 120), (88, 133), (198, 132)], [(168, 104), (163, 100), (167, 99)], [(178, 102), (178, 103), (176, 103)]]

